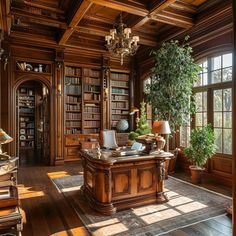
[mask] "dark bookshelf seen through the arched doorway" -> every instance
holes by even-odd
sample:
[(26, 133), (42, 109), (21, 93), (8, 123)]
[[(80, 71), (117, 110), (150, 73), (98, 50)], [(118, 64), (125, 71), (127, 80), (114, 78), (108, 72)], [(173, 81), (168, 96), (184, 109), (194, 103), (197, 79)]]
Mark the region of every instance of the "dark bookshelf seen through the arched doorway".
[(35, 148), (35, 89), (18, 90), (19, 150)]

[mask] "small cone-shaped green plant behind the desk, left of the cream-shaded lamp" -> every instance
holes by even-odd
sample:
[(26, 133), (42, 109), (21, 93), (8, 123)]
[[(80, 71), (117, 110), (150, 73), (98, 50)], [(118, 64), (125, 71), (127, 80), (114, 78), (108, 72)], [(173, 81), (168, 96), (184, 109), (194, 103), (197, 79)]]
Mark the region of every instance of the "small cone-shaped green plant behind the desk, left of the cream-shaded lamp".
[(149, 127), (149, 125), (147, 123), (147, 114), (145, 111), (146, 103), (144, 101), (142, 101), (140, 103), (140, 106), (141, 106), (140, 118), (138, 119), (138, 122), (137, 122), (137, 129), (135, 131), (131, 131), (129, 133), (130, 140), (134, 140), (135, 138), (137, 138), (140, 135), (149, 134), (151, 132), (151, 128)]

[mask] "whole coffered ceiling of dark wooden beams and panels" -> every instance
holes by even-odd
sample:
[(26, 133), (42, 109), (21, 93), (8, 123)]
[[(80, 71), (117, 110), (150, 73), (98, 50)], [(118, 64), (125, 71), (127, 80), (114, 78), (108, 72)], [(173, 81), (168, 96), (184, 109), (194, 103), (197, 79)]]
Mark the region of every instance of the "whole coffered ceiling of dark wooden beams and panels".
[(122, 12), (141, 47), (155, 47), (191, 29), (202, 14), (225, 2), (230, 1), (1, 0), (0, 31), (22, 42), (104, 51), (104, 36)]

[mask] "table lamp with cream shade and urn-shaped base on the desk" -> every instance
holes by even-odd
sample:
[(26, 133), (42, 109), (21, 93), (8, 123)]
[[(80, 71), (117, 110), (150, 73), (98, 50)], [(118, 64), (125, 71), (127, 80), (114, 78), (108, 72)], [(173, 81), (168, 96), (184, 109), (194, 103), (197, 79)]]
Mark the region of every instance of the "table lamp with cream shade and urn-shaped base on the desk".
[(170, 134), (170, 126), (168, 121), (154, 121), (152, 125), (152, 133), (156, 137), (157, 151), (161, 152), (165, 147), (166, 140), (159, 134)]

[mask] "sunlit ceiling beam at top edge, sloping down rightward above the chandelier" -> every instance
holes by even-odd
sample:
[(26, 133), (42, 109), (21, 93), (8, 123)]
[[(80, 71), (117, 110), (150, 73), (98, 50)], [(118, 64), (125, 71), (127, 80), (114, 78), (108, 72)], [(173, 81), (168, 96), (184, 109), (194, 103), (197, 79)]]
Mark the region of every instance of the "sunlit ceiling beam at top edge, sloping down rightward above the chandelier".
[(134, 2), (133, 3), (128, 2), (127, 0), (120, 0), (120, 1), (116, 1), (116, 0), (90, 0), (90, 1), (93, 2), (94, 4), (97, 4), (97, 5), (112, 8), (112, 9), (115, 9), (118, 11), (132, 13), (137, 16), (145, 17), (149, 13), (149, 11), (146, 8), (141, 7), (138, 4), (135, 4)]

